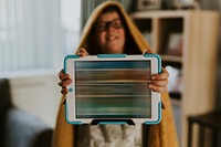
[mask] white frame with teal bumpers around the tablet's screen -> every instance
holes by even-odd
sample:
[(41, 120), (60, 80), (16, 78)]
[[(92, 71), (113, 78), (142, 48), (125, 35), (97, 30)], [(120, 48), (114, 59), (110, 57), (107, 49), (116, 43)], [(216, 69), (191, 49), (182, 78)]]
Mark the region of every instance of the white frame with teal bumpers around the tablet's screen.
[[(64, 72), (70, 74), (70, 77), (74, 80), (74, 62), (75, 61), (150, 61), (150, 71), (151, 75), (158, 74), (161, 70), (161, 61), (157, 54), (146, 54), (146, 55), (126, 55), (126, 56), (108, 56), (101, 57), (98, 55), (88, 55), (86, 57), (80, 57), (77, 55), (67, 55), (64, 59)], [(75, 115), (75, 88), (74, 81), (67, 86), (69, 93), (66, 94), (65, 103), (65, 117), (69, 124), (90, 124), (94, 119), (99, 118), (76, 118)], [(117, 120), (133, 119), (135, 124), (145, 123), (145, 124), (158, 124), (161, 119), (161, 102), (160, 94), (151, 91), (151, 117), (150, 118), (101, 118), (106, 119), (106, 123), (116, 124)], [(108, 122), (109, 119), (115, 119), (116, 122)]]

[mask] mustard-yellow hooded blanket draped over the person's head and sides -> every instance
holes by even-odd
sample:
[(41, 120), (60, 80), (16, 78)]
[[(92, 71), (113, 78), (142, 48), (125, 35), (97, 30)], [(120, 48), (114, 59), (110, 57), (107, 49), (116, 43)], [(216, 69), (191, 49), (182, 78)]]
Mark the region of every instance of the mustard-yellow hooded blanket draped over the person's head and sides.
[[(109, 6), (114, 6), (119, 9), (123, 17), (125, 18), (131, 38), (140, 49), (140, 52), (144, 52), (144, 50), (148, 50), (148, 52), (151, 52), (151, 49), (144, 39), (143, 34), (138, 31), (136, 25), (133, 23), (128, 14), (120, 6), (120, 3), (116, 1), (104, 2), (93, 11), (92, 15), (90, 17), (83, 30), (81, 43), (78, 46), (83, 46), (86, 50), (90, 49), (87, 43), (88, 43), (88, 34), (92, 30), (92, 27), (96, 22), (101, 12)], [(162, 119), (158, 125), (149, 125), (144, 127), (144, 130), (147, 132), (147, 136), (143, 137), (147, 143), (147, 147), (178, 147), (175, 122), (172, 117), (171, 104), (168, 93), (161, 94), (161, 98), (165, 99), (165, 105), (166, 105), (166, 109), (162, 109)], [(53, 136), (53, 147), (74, 147), (75, 144), (74, 132), (75, 132), (75, 126), (70, 125), (65, 122), (64, 105), (63, 103), (61, 103)]]

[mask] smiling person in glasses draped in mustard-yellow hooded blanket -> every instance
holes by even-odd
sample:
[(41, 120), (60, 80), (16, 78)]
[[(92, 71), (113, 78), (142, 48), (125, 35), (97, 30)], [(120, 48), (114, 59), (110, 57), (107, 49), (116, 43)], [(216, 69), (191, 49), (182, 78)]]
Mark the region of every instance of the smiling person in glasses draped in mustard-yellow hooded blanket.
[[(148, 43), (118, 2), (98, 6), (88, 19), (76, 54), (84, 57), (96, 54), (152, 53)], [(72, 83), (62, 70), (59, 74), (65, 103), (66, 86)], [(154, 75), (148, 81), (150, 90), (161, 93), (162, 119), (158, 125), (70, 125), (65, 122), (61, 103), (56, 120), (54, 147), (177, 147), (177, 135), (167, 92), (168, 72)]]

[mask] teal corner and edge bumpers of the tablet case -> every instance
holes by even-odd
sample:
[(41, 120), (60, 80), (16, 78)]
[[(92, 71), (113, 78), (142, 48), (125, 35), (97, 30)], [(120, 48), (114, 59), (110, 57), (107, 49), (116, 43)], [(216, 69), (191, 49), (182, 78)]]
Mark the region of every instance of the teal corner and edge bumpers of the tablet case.
[[(126, 57), (127, 54), (97, 54), (97, 57), (99, 59), (108, 59), (108, 57)], [(157, 57), (158, 60), (158, 73), (161, 73), (161, 59), (158, 54), (148, 54), (148, 53), (145, 53), (144, 54), (145, 57)], [(66, 61), (69, 59), (78, 59), (80, 56), (78, 55), (67, 55), (65, 56), (64, 59), (64, 73), (66, 73)], [(69, 92), (73, 92), (73, 88), (70, 88)], [(159, 114), (158, 114), (158, 120), (155, 120), (155, 122), (145, 122), (144, 124), (145, 125), (152, 125), (152, 124), (159, 124), (159, 122), (161, 120), (161, 102), (158, 103), (158, 108), (159, 108)], [(83, 123), (82, 122), (70, 122), (69, 118), (69, 111), (67, 111), (67, 105), (65, 104), (65, 118), (66, 118), (66, 122), (69, 124), (73, 124), (73, 125), (82, 125)], [(131, 119), (101, 119), (101, 120), (95, 120), (95, 122), (92, 122), (91, 123), (92, 125), (97, 125), (97, 124), (101, 124), (101, 125), (107, 125), (107, 124), (116, 124), (116, 125), (119, 125), (119, 124), (128, 124), (128, 125), (135, 125), (134, 122)]]

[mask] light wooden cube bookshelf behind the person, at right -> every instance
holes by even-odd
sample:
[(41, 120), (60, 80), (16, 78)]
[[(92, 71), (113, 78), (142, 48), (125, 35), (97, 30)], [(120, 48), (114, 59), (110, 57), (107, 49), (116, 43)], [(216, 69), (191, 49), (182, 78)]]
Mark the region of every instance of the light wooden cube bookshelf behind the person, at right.
[[(183, 91), (180, 93), (180, 99), (171, 97), (171, 104), (181, 109), (173, 113), (178, 114), (175, 119), (179, 127), (180, 146), (186, 147), (188, 116), (214, 108), (213, 75), (217, 73), (219, 13), (201, 10), (140, 11), (130, 17), (140, 32), (151, 34), (150, 39), (146, 38), (147, 42), (151, 42), (154, 52), (161, 56), (162, 66), (181, 70)], [(170, 48), (176, 43), (176, 40), (171, 42), (171, 35), (175, 34), (181, 36), (181, 44), (176, 45), (179, 48)], [(178, 53), (180, 56), (167, 55), (168, 52)]]

